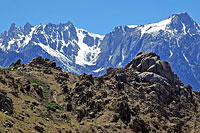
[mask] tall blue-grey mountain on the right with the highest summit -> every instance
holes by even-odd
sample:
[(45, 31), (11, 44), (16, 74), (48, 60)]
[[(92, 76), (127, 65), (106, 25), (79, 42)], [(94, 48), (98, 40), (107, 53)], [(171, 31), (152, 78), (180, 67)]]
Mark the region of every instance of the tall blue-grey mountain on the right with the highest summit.
[(200, 26), (187, 13), (155, 24), (115, 27), (104, 37), (101, 51), (99, 67), (123, 67), (140, 51), (156, 52), (184, 83), (200, 88)]

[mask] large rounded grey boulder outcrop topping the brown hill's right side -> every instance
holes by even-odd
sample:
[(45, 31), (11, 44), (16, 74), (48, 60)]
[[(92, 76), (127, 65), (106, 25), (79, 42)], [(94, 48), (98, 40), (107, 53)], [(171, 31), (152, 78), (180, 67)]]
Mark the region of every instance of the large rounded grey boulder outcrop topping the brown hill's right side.
[(168, 62), (160, 60), (156, 53), (138, 53), (138, 55), (125, 66), (125, 69), (136, 70), (139, 77), (149, 82), (169, 82), (178, 84), (178, 77), (172, 72)]

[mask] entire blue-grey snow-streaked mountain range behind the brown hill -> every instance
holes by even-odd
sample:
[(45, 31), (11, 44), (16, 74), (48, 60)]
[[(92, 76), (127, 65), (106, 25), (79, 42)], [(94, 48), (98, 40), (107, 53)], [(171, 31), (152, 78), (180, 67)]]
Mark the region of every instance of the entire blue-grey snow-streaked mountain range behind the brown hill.
[(158, 23), (117, 26), (106, 35), (66, 24), (24, 27), (12, 24), (0, 36), (0, 66), (42, 56), (64, 71), (102, 75), (108, 67), (124, 67), (138, 52), (156, 52), (170, 62), (185, 84), (200, 88), (200, 25), (187, 13)]

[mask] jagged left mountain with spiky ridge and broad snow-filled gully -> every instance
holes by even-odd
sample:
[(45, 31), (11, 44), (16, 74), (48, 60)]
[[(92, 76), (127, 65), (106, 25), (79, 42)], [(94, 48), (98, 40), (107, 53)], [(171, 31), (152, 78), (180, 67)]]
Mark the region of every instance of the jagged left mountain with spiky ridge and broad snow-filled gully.
[(1, 58), (1, 66), (8, 66), (16, 58), (27, 63), (41, 55), (56, 60), (66, 71), (80, 74), (85, 71), (80, 66), (95, 65), (103, 37), (76, 28), (71, 22), (37, 26), (27, 23), (24, 28), (12, 24), (8, 32), (1, 34), (2, 57), (7, 56)]

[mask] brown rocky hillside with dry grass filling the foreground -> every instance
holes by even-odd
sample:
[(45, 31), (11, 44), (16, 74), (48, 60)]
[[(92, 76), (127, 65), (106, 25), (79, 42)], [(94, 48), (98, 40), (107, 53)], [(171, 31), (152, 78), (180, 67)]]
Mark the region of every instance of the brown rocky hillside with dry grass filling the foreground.
[(100, 77), (41, 57), (0, 70), (1, 132), (200, 132), (199, 105), (155, 53)]

